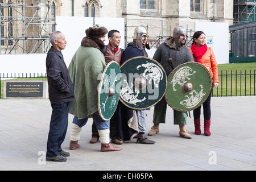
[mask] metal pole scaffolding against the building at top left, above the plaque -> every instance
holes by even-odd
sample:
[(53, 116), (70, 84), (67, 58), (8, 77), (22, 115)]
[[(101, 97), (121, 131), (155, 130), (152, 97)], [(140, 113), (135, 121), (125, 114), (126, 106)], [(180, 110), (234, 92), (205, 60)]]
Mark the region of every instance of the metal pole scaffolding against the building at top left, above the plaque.
[[(0, 0), (0, 53), (46, 53), (55, 26), (49, 0)], [(53, 14), (54, 15), (54, 14)]]

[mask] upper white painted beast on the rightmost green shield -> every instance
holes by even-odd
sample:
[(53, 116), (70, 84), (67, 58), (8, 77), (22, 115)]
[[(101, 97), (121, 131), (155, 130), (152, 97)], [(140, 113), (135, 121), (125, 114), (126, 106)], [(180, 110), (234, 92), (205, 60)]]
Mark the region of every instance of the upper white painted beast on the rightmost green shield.
[(189, 76), (191, 76), (195, 73), (196, 73), (196, 71), (193, 71), (192, 68), (190, 68), (190, 67), (183, 67), (179, 71), (177, 71), (171, 81), (172, 88), (174, 89), (174, 91), (177, 90), (177, 89), (175, 89), (176, 84), (183, 86), (185, 84), (185, 82), (187, 82), (188, 80), (191, 79), (191, 78), (189, 78)]

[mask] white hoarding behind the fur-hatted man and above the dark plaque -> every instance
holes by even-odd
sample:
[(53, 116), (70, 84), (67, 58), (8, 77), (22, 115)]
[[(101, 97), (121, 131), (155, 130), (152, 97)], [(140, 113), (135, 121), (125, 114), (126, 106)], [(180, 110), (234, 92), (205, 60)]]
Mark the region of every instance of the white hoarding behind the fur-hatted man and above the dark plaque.
[[(56, 30), (63, 32), (67, 39), (67, 47), (61, 51), (67, 66), (69, 65), (77, 48), (84, 38), (85, 30), (93, 26), (93, 18), (75, 16), (56, 16)], [(125, 30), (123, 18), (95, 18), (94, 23), (98, 23), (110, 30), (118, 30), (121, 34), (120, 47), (125, 46)], [(105, 44), (108, 44), (106, 35)], [(46, 53), (42, 54), (19, 54), (19, 55), (0, 55), (0, 73), (46, 73)], [(6, 75), (5, 75), (6, 76)]]

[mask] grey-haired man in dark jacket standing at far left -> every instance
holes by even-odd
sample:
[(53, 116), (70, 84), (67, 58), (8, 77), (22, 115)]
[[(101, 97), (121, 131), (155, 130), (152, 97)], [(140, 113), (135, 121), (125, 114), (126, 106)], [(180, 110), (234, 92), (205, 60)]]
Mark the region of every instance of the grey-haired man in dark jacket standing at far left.
[(46, 57), (46, 71), (49, 88), (49, 100), (52, 106), (49, 127), (46, 160), (65, 162), (69, 152), (61, 149), (68, 127), (69, 102), (75, 99), (74, 87), (69, 77), (67, 66), (61, 50), (65, 49), (67, 41), (60, 31), (49, 36), (52, 44)]

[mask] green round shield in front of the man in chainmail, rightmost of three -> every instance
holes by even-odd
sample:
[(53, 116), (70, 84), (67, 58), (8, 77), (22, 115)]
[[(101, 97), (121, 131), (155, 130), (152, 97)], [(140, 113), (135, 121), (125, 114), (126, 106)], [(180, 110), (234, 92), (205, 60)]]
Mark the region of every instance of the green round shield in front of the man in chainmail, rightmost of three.
[(168, 76), (166, 102), (178, 111), (194, 110), (204, 103), (211, 89), (212, 77), (203, 64), (184, 63)]

